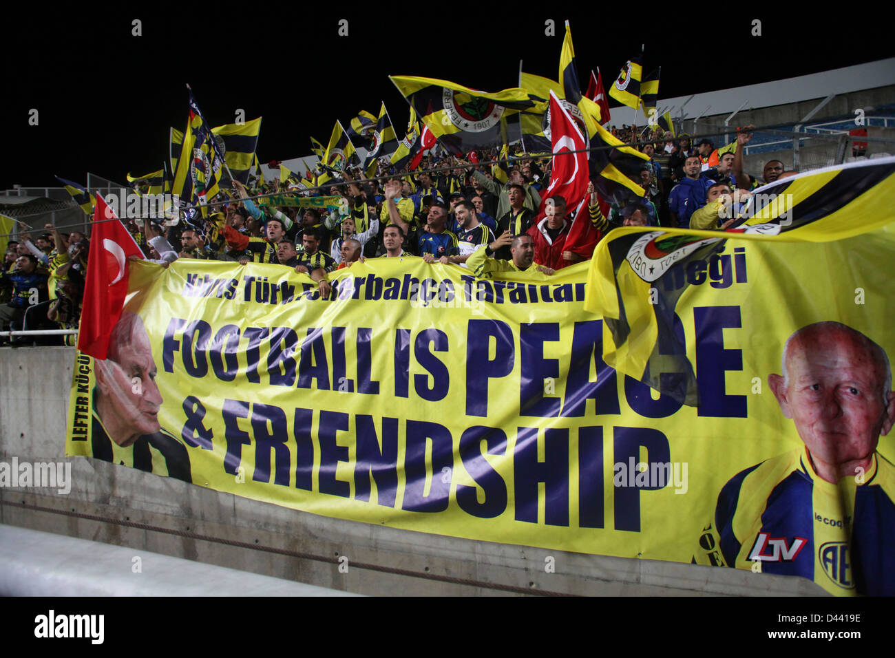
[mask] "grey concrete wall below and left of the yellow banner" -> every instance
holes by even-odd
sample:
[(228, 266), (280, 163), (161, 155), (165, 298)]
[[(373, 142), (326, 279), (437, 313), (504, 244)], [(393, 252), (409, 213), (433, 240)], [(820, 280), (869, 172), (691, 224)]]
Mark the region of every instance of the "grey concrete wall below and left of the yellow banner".
[[(73, 359), (67, 347), (0, 348), (0, 461), (65, 459)], [(823, 594), (804, 578), (402, 531), (280, 508), (86, 457), (69, 461), (68, 495), (0, 488), (0, 524), (124, 546), (133, 556), (153, 551), (356, 594)], [(549, 555), (554, 573), (545, 573)], [(339, 568), (343, 557), (346, 572)], [(131, 560), (107, 567), (130, 572)]]

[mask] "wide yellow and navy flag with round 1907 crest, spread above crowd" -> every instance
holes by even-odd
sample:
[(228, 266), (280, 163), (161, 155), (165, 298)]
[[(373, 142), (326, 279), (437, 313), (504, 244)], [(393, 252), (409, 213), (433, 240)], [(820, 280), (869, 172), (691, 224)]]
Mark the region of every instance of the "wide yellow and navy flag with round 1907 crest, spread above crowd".
[(434, 78), (389, 78), (441, 145), (456, 156), (516, 141), (518, 123), (514, 128), (507, 119), (534, 106), (519, 88), (489, 93)]

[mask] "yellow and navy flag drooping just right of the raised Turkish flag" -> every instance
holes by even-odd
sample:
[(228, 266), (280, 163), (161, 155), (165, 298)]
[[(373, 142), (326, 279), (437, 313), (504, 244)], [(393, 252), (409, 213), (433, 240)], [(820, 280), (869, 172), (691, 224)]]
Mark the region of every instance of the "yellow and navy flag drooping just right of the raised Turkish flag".
[(640, 171), (650, 158), (625, 146), (600, 124), (600, 107), (583, 96), (578, 109), (587, 128), (591, 180), (604, 201), (622, 203), (632, 194), (644, 196)]

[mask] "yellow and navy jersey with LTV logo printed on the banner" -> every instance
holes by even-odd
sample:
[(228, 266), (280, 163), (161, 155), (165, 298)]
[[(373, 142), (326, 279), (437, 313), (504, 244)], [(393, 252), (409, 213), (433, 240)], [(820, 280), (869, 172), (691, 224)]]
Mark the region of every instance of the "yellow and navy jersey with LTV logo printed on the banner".
[[(879, 453), (838, 484), (805, 448), (732, 477), (703, 527), (697, 564), (802, 576), (831, 594), (895, 594), (895, 466)], [(756, 568), (757, 570), (757, 568)]]

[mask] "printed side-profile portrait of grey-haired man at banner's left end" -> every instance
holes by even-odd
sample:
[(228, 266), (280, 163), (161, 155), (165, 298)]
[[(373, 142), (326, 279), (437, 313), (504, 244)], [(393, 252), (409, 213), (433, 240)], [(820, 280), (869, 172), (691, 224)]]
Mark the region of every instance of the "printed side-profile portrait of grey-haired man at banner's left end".
[(114, 441), (132, 450), (135, 468), (150, 473), (166, 471), (171, 477), (192, 482), (186, 447), (158, 423), (164, 400), (156, 373), (143, 320), (137, 313), (122, 312), (109, 338), (107, 358), (95, 362), (93, 457), (114, 462)]

